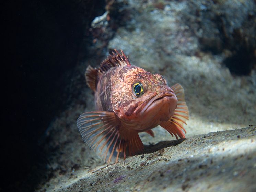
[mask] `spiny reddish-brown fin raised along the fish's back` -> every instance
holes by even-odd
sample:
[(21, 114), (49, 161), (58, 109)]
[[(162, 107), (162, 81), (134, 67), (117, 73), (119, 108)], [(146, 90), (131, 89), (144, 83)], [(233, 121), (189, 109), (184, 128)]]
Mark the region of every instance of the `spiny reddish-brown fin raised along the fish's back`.
[(87, 85), (93, 90), (96, 91), (97, 83), (103, 73), (108, 71), (113, 67), (119, 66), (130, 66), (131, 63), (128, 57), (125, 55), (123, 50), (121, 49), (121, 53), (114, 49), (112, 55), (109, 54), (107, 59), (101, 62), (100, 67), (91, 67), (90, 65), (87, 67), (85, 72), (85, 79)]

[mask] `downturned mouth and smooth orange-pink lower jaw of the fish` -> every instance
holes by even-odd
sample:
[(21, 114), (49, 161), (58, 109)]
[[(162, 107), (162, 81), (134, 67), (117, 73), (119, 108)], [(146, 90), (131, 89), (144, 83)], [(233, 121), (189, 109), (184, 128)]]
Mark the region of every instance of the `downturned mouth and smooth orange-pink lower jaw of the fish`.
[(141, 110), (141, 118), (168, 121), (177, 107), (178, 99), (173, 92), (161, 92), (148, 101)]

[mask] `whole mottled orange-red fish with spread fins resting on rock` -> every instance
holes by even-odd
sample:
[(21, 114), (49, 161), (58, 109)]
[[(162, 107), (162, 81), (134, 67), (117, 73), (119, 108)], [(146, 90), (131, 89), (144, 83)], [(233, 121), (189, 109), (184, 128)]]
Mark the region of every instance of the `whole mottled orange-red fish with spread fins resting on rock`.
[(185, 138), (189, 111), (183, 87), (169, 87), (162, 75), (131, 65), (123, 50), (114, 49), (99, 67), (88, 65), (85, 79), (96, 110), (81, 114), (77, 127), (106, 163), (142, 152), (139, 133), (154, 137), (152, 129), (158, 125), (176, 139)]

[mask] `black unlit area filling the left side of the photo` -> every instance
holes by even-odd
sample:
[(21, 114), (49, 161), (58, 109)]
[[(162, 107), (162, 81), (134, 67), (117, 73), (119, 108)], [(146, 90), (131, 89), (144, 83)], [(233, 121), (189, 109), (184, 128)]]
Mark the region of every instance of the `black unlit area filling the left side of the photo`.
[(38, 141), (67, 105), (65, 87), (77, 62), (86, 58), (86, 32), (105, 12), (105, 1), (2, 4), (0, 191), (33, 191), (46, 165)]

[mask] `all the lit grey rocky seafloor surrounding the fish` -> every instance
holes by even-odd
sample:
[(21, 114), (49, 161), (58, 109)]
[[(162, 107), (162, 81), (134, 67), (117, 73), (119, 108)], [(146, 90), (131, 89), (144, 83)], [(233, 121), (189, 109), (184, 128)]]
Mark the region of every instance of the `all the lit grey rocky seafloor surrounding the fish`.
[[(172, 141), (167, 131), (157, 127), (154, 138), (140, 133), (146, 153), (107, 166), (82, 141), (76, 126), (81, 113), (94, 110), (93, 94), (83, 74), (88, 64), (99, 63), (97, 57), (88, 58), (78, 65), (72, 79), (71, 90), (79, 94), (42, 139), (49, 163), (38, 191), (256, 189), (256, 130), (248, 127), (256, 124), (256, 70), (231, 74), (223, 63), (233, 52), (225, 46), (217, 47), (217, 53), (205, 51), (203, 41), (214, 44), (220, 36), (211, 20), (216, 6), (225, 13), (226, 34), (232, 41), (232, 30), (249, 26), (245, 15), (255, 16), (254, 1), (161, 1), (161, 9), (154, 2), (128, 1), (130, 19), (117, 29), (106, 50), (123, 49), (132, 65), (163, 75), (169, 85), (184, 87), (190, 113), (185, 125), (188, 139)], [(237, 9), (236, 18), (230, 19)], [(255, 29), (255, 23), (250, 26)], [(253, 36), (251, 28), (244, 29), (243, 35)], [(107, 51), (104, 54), (107, 57)], [(247, 128), (238, 129), (243, 127)], [(220, 132), (224, 130), (231, 131)]]

